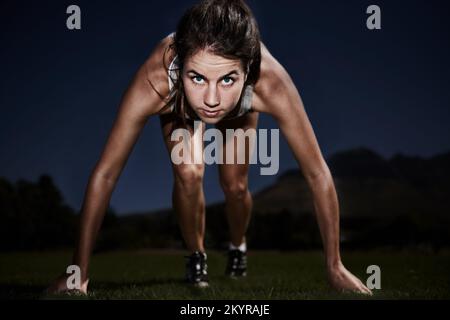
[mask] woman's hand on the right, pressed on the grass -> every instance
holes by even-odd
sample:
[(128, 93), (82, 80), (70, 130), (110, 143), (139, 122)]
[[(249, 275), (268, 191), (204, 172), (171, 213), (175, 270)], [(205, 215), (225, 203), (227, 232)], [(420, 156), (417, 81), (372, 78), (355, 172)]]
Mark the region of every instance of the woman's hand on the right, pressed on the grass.
[(364, 295), (372, 295), (372, 291), (348, 271), (342, 263), (328, 269), (328, 280), (330, 285), (338, 291), (351, 291)]

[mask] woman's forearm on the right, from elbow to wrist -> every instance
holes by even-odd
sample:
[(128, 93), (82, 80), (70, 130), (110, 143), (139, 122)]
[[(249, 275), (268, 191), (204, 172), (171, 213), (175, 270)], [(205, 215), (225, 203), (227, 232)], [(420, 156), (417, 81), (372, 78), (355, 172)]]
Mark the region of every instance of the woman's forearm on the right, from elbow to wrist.
[(339, 253), (339, 203), (329, 170), (308, 179), (324, 246), (327, 269), (341, 263)]

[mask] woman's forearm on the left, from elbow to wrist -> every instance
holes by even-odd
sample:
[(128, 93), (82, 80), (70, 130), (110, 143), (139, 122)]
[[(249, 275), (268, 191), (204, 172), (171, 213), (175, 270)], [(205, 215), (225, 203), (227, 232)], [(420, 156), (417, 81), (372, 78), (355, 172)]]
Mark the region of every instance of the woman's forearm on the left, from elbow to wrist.
[(72, 263), (81, 268), (81, 277), (87, 278), (89, 258), (97, 233), (108, 208), (115, 182), (93, 173), (89, 179), (79, 218), (78, 241)]

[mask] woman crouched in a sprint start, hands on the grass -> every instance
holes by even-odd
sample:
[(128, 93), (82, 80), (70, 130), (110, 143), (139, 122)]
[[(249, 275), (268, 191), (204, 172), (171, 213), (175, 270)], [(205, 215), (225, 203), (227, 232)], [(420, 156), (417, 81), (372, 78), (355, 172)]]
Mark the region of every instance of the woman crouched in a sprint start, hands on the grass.
[[(81, 292), (87, 292), (89, 258), (111, 194), (126, 160), (150, 116), (158, 115), (169, 153), (178, 143), (171, 133), (191, 133), (189, 152), (198, 135), (193, 122), (217, 129), (255, 129), (260, 112), (273, 116), (291, 147), (313, 194), (323, 240), (328, 279), (338, 290), (370, 294), (342, 264), (339, 253), (339, 206), (333, 179), (323, 159), (300, 95), (290, 76), (260, 41), (247, 5), (235, 0), (204, 0), (181, 18), (176, 32), (164, 38), (140, 67), (127, 89), (103, 153), (94, 168), (82, 206), (79, 241), (73, 264), (81, 269)], [(226, 141), (223, 153), (226, 154)], [(242, 149), (235, 148), (235, 155)], [(245, 154), (249, 154), (249, 144)], [(239, 149), (239, 150), (238, 150)], [(230, 250), (226, 273), (246, 274), (245, 233), (252, 209), (248, 190), (249, 157), (244, 164), (219, 164), (226, 199)], [(204, 163), (172, 163), (173, 207), (186, 247), (186, 278), (207, 286), (203, 246)], [(50, 292), (67, 289), (66, 275)]]

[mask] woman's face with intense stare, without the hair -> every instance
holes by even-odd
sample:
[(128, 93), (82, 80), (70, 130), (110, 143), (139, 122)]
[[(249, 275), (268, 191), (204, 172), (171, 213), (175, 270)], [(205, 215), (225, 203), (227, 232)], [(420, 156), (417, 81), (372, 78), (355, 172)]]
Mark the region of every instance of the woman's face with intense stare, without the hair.
[(198, 51), (184, 63), (182, 81), (192, 110), (205, 123), (217, 123), (236, 107), (247, 75), (240, 60)]

